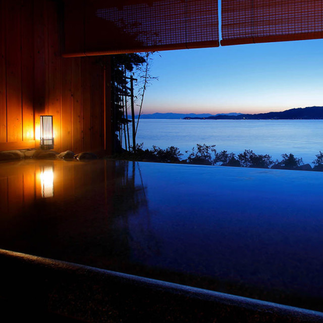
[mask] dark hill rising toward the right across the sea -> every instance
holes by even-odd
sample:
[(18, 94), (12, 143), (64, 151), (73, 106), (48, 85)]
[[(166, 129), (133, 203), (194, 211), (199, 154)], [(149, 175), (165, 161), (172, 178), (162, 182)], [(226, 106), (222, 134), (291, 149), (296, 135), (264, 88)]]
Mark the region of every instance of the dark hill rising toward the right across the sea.
[[(190, 117), (184, 119), (192, 119)], [(204, 118), (194, 118), (204, 119)], [(298, 107), (281, 112), (268, 112), (259, 114), (239, 114), (237, 116), (218, 115), (205, 119), (211, 120), (293, 120), (293, 119), (323, 119), (323, 106)]]

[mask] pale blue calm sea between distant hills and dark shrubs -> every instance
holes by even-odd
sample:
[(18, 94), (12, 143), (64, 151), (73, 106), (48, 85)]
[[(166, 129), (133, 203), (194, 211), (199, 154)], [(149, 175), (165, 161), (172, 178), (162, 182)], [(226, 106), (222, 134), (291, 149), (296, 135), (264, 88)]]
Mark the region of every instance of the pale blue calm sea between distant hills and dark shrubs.
[(149, 120), (139, 122), (137, 143), (144, 148), (178, 147), (184, 156), (197, 143), (216, 145), (218, 151), (240, 153), (251, 149), (281, 160), (283, 153), (312, 163), (323, 151), (323, 120)]

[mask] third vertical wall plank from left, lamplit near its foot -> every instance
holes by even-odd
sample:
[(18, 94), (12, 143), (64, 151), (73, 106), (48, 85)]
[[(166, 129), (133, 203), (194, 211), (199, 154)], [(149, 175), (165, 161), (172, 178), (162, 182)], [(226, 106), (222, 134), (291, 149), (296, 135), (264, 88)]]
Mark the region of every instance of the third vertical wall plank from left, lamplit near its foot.
[(34, 140), (34, 39), (33, 3), (22, 1), (21, 10), (21, 77), (22, 77), (22, 130), (23, 140)]

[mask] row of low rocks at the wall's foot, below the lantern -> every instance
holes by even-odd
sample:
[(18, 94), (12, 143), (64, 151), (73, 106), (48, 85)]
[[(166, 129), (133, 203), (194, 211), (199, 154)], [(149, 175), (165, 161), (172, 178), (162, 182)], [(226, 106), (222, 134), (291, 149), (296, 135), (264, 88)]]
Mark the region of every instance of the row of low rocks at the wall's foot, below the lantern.
[(63, 151), (61, 153), (53, 150), (42, 149), (21, 149), (21, 150), (6, 150), (0, 151), (0, 161), (15, 160), (15, 159), (97, 159), (98, 156), (93, 152), (80, 152), (75, 154), (71, 150)]

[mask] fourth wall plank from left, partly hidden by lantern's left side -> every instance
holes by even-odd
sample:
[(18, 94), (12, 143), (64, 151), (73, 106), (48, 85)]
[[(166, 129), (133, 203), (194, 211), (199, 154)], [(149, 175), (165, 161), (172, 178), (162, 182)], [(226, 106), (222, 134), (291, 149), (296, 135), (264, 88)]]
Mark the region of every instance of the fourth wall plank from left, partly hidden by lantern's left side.
[(35, 139), (39, 144), (39, 115), (45, 113), (44, 1), (34, 0), (34, 113)]

